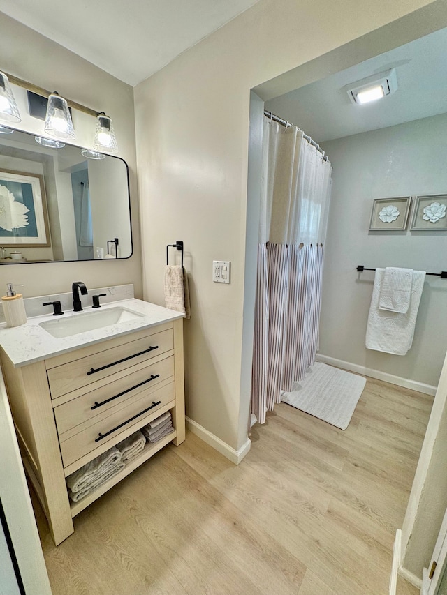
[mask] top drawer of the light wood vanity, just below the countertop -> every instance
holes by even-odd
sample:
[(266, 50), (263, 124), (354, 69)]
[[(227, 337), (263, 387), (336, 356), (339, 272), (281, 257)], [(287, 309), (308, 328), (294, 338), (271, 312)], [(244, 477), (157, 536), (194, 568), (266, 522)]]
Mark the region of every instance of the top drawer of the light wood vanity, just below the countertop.
[(159, 356), (173, 347), (173, 330), (168, 329), (51, 368), (47, 370), (51, 398), (55, 399), (115, 372), (131, 368), (136, 363)]

